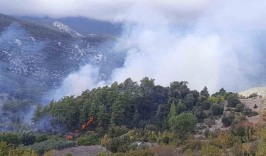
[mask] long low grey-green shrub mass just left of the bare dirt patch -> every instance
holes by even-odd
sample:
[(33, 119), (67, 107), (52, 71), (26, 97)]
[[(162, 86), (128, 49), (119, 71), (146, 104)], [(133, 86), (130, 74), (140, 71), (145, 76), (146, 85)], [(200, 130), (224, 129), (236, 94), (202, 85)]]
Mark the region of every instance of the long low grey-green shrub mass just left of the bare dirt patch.
[(75, 141), (55, 141), (48, 139), (40, 143), (35, 142), (34, 144), (28, 145), (26, 147), (35, 150), (38, 154), (43, 154), (45, 151), (59, 150), (75, 145), (76, 145)]

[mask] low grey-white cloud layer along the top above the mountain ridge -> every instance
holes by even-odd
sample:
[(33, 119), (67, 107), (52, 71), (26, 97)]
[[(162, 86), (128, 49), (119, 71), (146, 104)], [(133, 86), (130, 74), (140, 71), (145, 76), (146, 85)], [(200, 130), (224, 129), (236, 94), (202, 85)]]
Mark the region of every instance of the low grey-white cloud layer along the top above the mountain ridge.
[[(48, 16), (50, 18), (83, 16), (105, 21), (139, 21), (128, 14), (132, 6), (164, 11), (176, 21), (195, 19), (208, 6), (209, 0), (1, 0), (0, 11), (9, 15)], [(140, 10), (141, 8), (139, 8)]]

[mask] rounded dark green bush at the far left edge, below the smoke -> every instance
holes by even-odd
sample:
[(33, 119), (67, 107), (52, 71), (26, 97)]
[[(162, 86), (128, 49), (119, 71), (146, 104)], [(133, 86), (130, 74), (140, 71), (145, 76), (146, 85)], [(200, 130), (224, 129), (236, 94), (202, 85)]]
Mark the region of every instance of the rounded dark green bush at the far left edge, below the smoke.
[(19, 145), (22, 142), (21, 135), (17, 132), (0, 132), (0, 141), (7, 144)]

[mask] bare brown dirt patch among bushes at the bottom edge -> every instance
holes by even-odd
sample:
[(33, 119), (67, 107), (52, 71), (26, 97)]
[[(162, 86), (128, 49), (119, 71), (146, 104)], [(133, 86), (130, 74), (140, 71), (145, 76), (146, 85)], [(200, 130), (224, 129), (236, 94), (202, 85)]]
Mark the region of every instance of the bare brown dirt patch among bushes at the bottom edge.
[(73, 156), (93, 156), (95, 154), (100, 153), (109, 153), (107, 149), (101, 145), (94, 145), (94, 146), (76, 146), (71, 147), (63, 150), (59, 150), (53, 156), (63, 156), (67, 153), (72, 154)]

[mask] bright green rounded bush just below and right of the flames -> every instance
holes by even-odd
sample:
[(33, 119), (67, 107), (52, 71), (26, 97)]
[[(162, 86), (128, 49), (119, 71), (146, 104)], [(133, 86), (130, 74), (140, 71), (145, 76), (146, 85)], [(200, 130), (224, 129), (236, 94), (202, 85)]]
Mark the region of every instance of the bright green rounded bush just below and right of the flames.
[(86, 132), (86, 135), (84, 137), (79, 137), (77, 139), (78, 145), (99, 145), (101, 142), (101, 139), (97, 137), (97, 133), (94, 131), (88, 131)]

